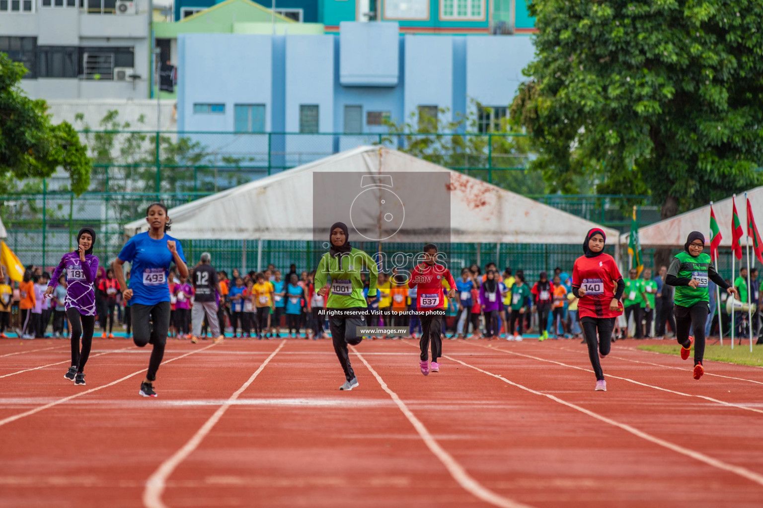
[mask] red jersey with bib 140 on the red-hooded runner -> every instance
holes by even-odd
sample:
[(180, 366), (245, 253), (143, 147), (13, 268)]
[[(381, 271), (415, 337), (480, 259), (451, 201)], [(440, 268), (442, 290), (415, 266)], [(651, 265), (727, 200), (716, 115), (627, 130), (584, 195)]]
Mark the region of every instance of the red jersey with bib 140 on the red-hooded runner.
[(572, 269), (572, 287), (585, 289), (585, 295), (578, 302), (580, 317), (617, 318), (623, 314), (623, 304), (618, 305), (617, 311), (610, 310), (617, 281), (622, 278), (617, 263), (609, 254), (578, 257)]

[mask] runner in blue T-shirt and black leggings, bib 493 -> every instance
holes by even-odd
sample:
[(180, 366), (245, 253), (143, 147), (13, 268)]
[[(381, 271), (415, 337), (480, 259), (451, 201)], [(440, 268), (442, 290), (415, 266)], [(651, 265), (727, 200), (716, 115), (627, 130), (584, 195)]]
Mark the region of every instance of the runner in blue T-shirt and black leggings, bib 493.
[[(162, 363), (169, 331), (169, 286), (167, 275), (174, 261), (180, 276), (188, 277), (183, 248), (179, 241), (167, 235), (172, 219), (167, 207), (153, 203), (146, 209), (149, 230), (127, 241), (112, 264), (122, 296), (132, 305), (133, 340), (137, 347), (153, 344), (146, 379), (140, 384), (140, 395), (156, 397), (153, 382)], [(124, 282), (122, 265), (132, 264), (130, 287)], [(153, 322), (153, 327), (151, 326)], [(153, 329), (152, 329), (153, 328)]]

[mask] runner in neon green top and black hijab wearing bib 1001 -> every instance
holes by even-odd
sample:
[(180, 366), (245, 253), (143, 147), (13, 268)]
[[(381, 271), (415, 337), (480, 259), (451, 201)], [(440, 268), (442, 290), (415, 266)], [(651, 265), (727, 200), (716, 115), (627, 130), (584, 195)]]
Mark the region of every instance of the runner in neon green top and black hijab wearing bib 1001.
[(330, 291), (326, 302), (327, 312), (344, 311), (340, 315), (329, 316), (329, 327), (334, 352), (342, 364), (346, 379), (339, 389), (352, 390), (358, 386), (358, 380), (353, 366), (349, 364), (347, 344), (359, 344), (363, 338), (356, 332), (356, 328), (365, 326), (366, 303), (363, 298), (360, 270), (364, 267), (369, 270), (369, 301), (373, 302), (376, 299), (378, 268), (369, 254), (352, 248), (347, 226), (343, 222), (336, 222), (331, 226), (330, 241), (330, 251), (320, 258), (315, 272), (315, 288), (320, 296), (325, 296)]

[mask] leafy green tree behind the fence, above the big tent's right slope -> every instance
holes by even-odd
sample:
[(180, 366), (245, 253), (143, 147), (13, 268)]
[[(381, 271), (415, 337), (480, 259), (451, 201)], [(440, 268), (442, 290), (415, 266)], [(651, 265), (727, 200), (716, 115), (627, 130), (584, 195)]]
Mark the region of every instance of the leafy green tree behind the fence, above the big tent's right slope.
[[(401, 152), (425, 161), (484, 181), (490, 180), (506, 190), (521, 194), (545, 193), (542, 174), (525, 169), (530, 160), (530, 142), (517, 122), (502, 119), (491, 130), (495, 136), (459, 133), (478, 133), (476, 112), (480, 107), (472, 101), (471, 113), (466, 117), (459, 115), (454, 120), (443, 120), (448, 117), (449, 110), (440, 108), (436, 118), (419, 118), (414, 112), (405, 122), (387, 121), (388, 135), (382, 138), (382, 142), (396, 145)], [(488, 149), (488, 143), (491, 149)], [(489, 174), (488, 167), (492, 168)]]

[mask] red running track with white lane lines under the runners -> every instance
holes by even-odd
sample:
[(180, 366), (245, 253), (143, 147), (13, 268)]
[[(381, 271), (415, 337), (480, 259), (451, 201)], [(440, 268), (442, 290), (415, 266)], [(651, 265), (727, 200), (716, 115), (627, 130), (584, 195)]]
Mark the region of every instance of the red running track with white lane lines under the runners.
[(446, 340), (428, 377), (364, 341), (341, 392), (327, 340), (169, 340), (148, 399), (126, 340), (85, 387), (65, 342), (2, 340), (0, 506), (761, 506), (763, 369), (635, 345), (595, 392), (578, 341)]

